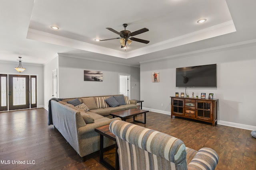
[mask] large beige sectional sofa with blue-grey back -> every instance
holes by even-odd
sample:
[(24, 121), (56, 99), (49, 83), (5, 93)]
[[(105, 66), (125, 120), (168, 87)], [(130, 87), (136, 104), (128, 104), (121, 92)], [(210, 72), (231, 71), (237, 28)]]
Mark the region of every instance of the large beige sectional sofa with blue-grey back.
[[(49, 101), (48, 125), (53, 124), (83, 160), (86, 160), (86, 155), (100, 149), (100, 135), (94, 129), (108, 125), (113, 120), (120, 120), (120, 118), (108, 118), (107, 116), (110, 113), (137, 108), (134, 100), (126, 101), (128, 104), (125, 105), (110, 107), (104, 103), (104, 100), (110, 97), (112, 96), (78, 98), (87, 108), (68, 104), (69, 101), (77, 100), (77, 98), (66, 98), (62, 99), (62, 101), (51, 99)], [(88, 109), (89, 111), (87, 111)], [(113, 144), (114, 141), (108, 138), (104, 139), (104, 147)]]

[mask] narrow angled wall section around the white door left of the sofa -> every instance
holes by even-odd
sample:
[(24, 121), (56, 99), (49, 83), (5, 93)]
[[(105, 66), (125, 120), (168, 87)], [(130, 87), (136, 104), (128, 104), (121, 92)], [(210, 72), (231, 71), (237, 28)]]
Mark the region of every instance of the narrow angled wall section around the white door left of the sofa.
[(49, 99), (52, 98), (52, 71), (57, 69), (58, 76), (58, 63), (58, 56), (56, 56), (44, 65), (44, 107), (46, 109), (48, 109)]

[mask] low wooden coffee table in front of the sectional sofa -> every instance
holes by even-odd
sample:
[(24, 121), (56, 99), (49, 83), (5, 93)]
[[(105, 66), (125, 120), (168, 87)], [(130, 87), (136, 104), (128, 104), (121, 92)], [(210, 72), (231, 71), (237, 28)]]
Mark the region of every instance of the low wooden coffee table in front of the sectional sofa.
[[(146, 113), (148, 110), (142, 110), (142, 109), (128, 109), (124, 111), (118, 111), (115, 113), (110, 113), (110, 115), (114, 117), (120, 117), (122, 120), (126, 121), (126, 118), (133, 116), (133, 121), (140, 122), (146, 124)], [(135, 120), (136, 115), (140, 115), (144, 113), (144, 122)]]

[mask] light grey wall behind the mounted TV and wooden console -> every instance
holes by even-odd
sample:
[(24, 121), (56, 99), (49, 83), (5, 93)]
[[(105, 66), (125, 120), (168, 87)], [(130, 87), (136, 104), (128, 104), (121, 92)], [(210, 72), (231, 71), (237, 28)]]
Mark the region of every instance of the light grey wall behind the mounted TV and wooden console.
[[(217, 88), (187, 88), (189, 96), (214, 93), (219, 99), (218, 123), (256, 130), (256, 45), (242, 45), (195, 55), (142, 63), (140, 99), (144, 108), (170, 114), (170, 96), (185, 92), (176, 88), (176, 68), (217, 64)], [(152, 72), (159, 71), (160, 82), (152, 83)], [(163, 106), (161, 106), (163, 104)]]

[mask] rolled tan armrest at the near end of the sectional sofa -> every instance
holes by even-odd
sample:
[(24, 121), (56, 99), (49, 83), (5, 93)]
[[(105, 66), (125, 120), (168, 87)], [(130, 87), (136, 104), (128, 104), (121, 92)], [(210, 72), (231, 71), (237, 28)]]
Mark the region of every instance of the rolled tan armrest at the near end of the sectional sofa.
[(109, 125), (114, 120), (121, 120), (121, 119), (119, 117), (116, 117), (113, 119), (109, 119), (109, 120), (105, 120), (105, 121), (101, 121), (101, 122), (97, 122), (97, 123), (86, 124), (85, 126), (78, 128), (78, 134), (85, 135), (86, 133), (90, 133), (90, 132), (94, 131), (94, 129), (97, 127)]

